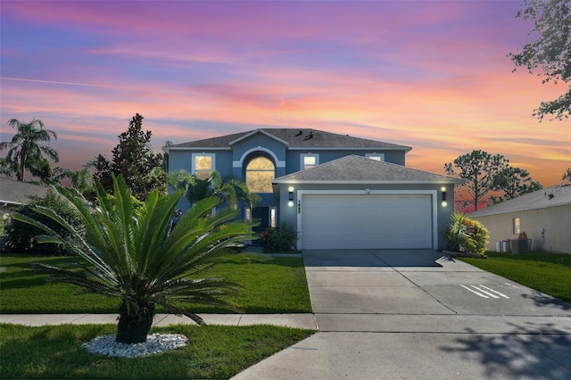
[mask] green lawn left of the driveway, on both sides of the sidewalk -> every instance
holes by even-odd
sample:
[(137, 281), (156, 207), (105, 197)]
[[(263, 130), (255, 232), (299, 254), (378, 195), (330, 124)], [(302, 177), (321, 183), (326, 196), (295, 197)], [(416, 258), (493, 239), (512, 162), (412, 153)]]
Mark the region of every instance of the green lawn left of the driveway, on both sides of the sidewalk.
[[(0, 255), (2, 313), (116, 313), (118, 300), (83, 293), (77, 286), (46, 283), (26, 269), (33, 261), (62, 264), (69, 258)], [(220, 264), (204, 277), (227, 277), (243, 285), (228, 296), (248, 313), (310, 312), (301, 258)], [(191, 305), (198, 313), (228, 312)], [(158, 310), (161, 312), (161, 310)], [(2, 378), (227, 379), (299, 342), (315, 331), (280, 326), (153, 327), (151, 333), (186, 335), (186, 347), (141, 358), (107, 358), (81, 348), (116, 325), (29, 327), (0, 324)]]

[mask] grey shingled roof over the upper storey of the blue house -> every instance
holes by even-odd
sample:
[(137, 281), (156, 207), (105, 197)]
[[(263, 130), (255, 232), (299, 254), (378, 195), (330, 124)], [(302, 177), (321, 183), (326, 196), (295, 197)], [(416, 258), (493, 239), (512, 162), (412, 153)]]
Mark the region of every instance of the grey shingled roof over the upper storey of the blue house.
[(382, 150), (404, 150), (410, 151), (410, 146), (384, 143), (377, 140), (368, 140), (349, 135), (339, 135), (311, 128), (259, 128), (246, 132), (235, 133), (227, 136), (206, 138), (203, 140), (190, 141), (182, 144), (175, 144), (163, 147), (165, 152), (170, 150), (192, 150), (192, 149), (230, 149), (236, 142), (262, 133), (275, 138), (288, 146), (289, 149), (382, 149)]

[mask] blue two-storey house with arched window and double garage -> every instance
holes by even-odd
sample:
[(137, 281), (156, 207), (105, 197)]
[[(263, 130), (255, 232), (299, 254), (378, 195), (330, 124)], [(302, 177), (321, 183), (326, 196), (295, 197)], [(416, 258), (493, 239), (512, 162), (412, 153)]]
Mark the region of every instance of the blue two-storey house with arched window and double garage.
[(169, 170), (218, 170), (261, 196), (240, 218), (292, 223), (297, 249), (443, 249), (459, 179), (405, 166), (410, 146), (316, 129), (259, 128), (163, 147)]

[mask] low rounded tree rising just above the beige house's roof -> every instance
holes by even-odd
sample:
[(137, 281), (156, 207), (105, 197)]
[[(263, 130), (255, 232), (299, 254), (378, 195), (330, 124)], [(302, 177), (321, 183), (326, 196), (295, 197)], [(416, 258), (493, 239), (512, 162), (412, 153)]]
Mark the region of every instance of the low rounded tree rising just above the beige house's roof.
[(501, 170), (494, 178), (493, 190), (500, 191), (501, 195), (490, 197), (492, 204), (517, 198), (519, 195), (533, 193), (543, 188), (542, 184), (534, 181), (525, 169), (507, 167)]

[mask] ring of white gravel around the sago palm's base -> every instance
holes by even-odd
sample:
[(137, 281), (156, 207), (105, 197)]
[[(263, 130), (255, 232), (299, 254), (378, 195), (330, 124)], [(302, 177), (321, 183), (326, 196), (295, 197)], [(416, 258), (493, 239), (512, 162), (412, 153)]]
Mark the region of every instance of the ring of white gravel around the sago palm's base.
[(151, 355), (168, 350), (174, 350), (186, 346), (188, 339), (180, 334), (151, 334), (147, 335), (145, 343), (117, 343), (115, 334), (97, 336), (81, 347), (91, 353), (105, 356), (134, 358), (137, 356)]

